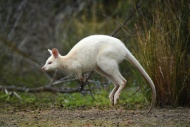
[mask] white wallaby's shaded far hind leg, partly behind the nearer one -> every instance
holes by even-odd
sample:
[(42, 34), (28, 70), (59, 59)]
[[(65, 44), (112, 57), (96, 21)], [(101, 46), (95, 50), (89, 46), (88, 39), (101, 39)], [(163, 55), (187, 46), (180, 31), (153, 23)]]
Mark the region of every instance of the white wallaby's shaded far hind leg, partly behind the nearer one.
[(114, 84), (114, 88), (113, 88), (113, 90), (111, 91), (111, 93), (109, 95), (110, 102), (114, 106), (114, 95), (115, 95), (116, 91), (119, 88), (119, 84), (114, 80), (114, 78), (112, 76), (105, 73), (101, 68), (97, 67), (95, 71), (97, 73), (99, 73), (100, 75), (106, 77), (108, 80), (110, 80)]

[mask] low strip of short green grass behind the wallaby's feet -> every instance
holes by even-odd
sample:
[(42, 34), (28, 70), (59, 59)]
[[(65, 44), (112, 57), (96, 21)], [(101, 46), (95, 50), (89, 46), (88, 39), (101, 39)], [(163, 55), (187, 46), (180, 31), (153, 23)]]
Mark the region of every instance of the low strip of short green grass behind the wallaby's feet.
[[(134, 94), (135, 93), (135, 94)], [(0, 93), (0, 103), (10, 104), (12, 106), (27, 106), (30, 108), (65, 108), (65, 109), (109, 109), (113, 108), (108, 95), (108, 90), (96, 91), (93, 96), (94, 99), (86, 93), (73, 94), (52, 94), (52, 93), (18, 93), (22, 100), (19, 100), (15, 96), (8, 96), (4, 93)], [(126, 89), (122, 92), (119, 100), (119, 104), (114, 108), (124, 109), (136, 109), (143, 108), (147, 105), (146, 98), (142, 92), (136, 92), (136, 88)]]

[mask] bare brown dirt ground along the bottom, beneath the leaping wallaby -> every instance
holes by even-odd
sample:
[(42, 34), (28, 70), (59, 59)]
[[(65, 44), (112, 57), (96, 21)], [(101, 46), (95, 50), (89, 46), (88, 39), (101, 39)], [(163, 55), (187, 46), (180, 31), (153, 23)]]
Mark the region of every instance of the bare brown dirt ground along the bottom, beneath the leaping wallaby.
[(0, 127), (190, 127), (189, 108), (146, 111), (3, 107)]

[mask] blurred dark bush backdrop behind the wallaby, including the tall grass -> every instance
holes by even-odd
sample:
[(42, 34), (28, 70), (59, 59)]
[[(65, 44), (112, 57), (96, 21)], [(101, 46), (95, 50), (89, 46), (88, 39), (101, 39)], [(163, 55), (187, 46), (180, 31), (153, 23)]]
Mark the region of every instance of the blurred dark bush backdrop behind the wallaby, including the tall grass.
[[(125, 43), (153, 79), (158, 105), (190, 105), (188, 0), (0, 0), (0, 94), (80, 86), (73, 75), (44, 73), (41, 67), (47, 49), (65, 55), (92, 34)], [(151, 98), (149, 86), (130, 63), (123, 62), (120, 70), (128, 87), (140, 86)], [(91, 89), (110, 85), (96, 74), (89, 82), (95, 84)]]

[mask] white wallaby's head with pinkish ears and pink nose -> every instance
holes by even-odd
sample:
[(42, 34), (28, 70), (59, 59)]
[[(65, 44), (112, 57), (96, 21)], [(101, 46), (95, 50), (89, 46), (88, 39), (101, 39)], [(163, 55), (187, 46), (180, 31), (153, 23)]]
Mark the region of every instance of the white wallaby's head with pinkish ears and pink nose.
[(59, 64), (59, 58), (60, 54), (59, 51), (56, 48), (53, 48), (52, 50), (49, 50), (50, 57), (47, 59), (45, 65), (42, 67), (43, 71), (54, 71), (57, 70), (60, 66)]

